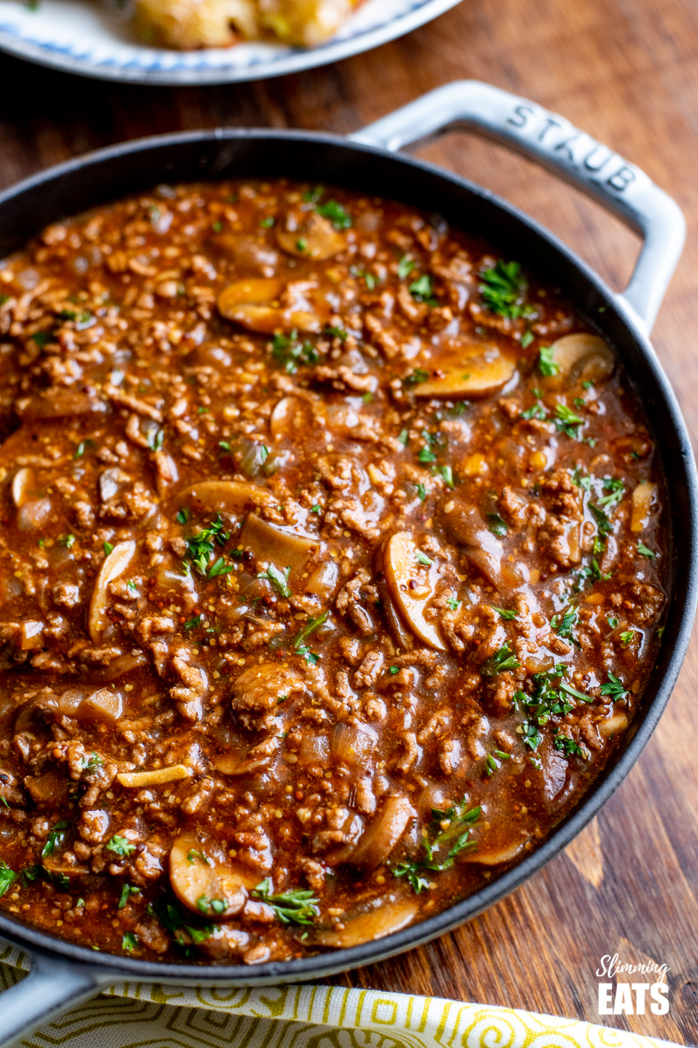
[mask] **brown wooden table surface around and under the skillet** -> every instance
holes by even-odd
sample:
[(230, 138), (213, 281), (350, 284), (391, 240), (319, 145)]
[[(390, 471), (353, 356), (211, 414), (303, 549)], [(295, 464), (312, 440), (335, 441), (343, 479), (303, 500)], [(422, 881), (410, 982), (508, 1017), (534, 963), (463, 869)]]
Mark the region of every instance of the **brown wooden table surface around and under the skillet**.
[[(339, 65), (257, 84), (120, 87), (0, 58), (0, 184), (95, 147), (212, 126), (345, 133), (449, 80), (527, 95), (644, 168), (681, 204), (689, 243), (654, 344), (698, 432), (696, 0), (464, 0), (431, 25)], [(636, 238), (527, 161), (465, 135), (422, 155), (526, 210), (616, 288)], [(693, 228), (692, 228), (693, 226)], [(452, 935), (338, 977), (601, 1022), (603, 955), (670, 967), (667, 1017), (604, 1019), (698, 1044), (698, 730), (694, 643), (640, 761), (599, 817), (523, 888)]]

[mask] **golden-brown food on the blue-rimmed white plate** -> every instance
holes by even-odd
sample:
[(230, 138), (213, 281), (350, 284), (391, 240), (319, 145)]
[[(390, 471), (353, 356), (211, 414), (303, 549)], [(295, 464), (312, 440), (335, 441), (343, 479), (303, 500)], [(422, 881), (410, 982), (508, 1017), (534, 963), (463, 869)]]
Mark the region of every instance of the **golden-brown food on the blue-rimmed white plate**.
[(180, 50), (245, 40), (317, 47), (361, 0), (135, 0), (141, 40)]

